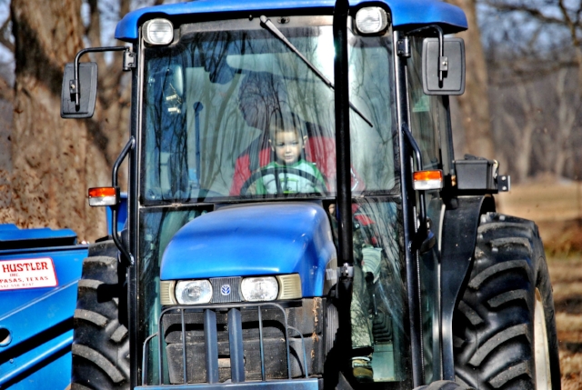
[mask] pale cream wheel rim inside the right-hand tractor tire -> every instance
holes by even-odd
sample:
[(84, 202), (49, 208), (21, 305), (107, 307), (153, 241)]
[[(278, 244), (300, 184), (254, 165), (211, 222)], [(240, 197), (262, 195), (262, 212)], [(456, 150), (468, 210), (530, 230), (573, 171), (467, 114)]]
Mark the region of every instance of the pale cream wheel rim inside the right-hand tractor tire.
[(551, 389), (552, 378), (549, 370), (549, 348), (547, 346), (546, 314), (542, 295), (536, 289), (534, 311), (534, 346), (536, 349), (536, 384), (538, 389)]

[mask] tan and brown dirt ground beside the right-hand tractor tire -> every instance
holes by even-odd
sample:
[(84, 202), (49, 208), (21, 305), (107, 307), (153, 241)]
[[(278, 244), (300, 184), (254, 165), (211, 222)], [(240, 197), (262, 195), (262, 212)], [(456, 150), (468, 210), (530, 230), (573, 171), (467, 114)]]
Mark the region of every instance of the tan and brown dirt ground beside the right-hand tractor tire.
[(497, 196), (497, 208), (536, 221), (554, 290), (562, 388), (582, 388), (582, 184), (538, 181)]

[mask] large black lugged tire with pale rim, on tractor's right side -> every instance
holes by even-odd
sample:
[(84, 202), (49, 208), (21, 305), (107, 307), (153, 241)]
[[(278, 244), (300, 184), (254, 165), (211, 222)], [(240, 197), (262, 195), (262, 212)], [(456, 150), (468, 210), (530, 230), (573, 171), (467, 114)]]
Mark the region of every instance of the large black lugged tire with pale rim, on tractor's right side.
[(453, 317), (453, 343), (460, 384), (560, 388), (554, 300), (533, 222), (481, 216), (470, 279)]

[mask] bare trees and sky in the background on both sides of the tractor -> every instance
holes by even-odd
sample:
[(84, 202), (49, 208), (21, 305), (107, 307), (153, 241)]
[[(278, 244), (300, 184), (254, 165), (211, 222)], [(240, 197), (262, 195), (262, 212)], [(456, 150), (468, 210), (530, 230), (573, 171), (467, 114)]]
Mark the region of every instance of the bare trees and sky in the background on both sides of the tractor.
[[(466, 94), (453, 102), (457, 158), (496, 158), (514, 184), (580, 180), (582, 0), (448, 2), (470, 26), (460, 35)], [(86, 190), (110, 184), (128, 135), (129, 80), (120, 55), (93, 55), (95, 116), (65, 121), (63, 68), (84, 47), (122, 45), (113, 37), (121, 16), (162, 3), (0, 0), (0, 223), (69, 227), (89, 241), (105, 234)]]

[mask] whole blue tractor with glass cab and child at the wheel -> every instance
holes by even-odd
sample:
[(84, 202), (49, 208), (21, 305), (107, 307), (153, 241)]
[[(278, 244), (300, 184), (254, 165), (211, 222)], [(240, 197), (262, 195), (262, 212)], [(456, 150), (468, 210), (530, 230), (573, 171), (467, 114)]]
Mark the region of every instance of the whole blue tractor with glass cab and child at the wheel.
[[(204, 0), (131, 12), (90, 52), (132, 75), (110, 236), (79, 282), (72, 389), (558, 389), (537, 226), (497, 161), (453, 153), (462, 10)], [(117, 171), (129, 160), (127, 222)]]

